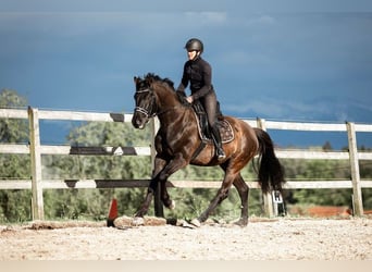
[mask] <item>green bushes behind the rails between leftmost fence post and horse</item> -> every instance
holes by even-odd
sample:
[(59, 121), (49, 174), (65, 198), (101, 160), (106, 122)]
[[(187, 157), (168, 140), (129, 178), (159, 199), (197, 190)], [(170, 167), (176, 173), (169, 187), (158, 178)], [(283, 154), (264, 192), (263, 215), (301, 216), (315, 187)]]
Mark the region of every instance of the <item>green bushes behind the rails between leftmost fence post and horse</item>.
[[(88, 122), (74, 127), (67, 135), (71, 146), (127, 147), (150, 141), (150, 131), (134, 129), (128, 123)], [(127, 156), (45, 156), (45, 178), (150, 178), (149, 157)], [(133, 214), (142, 200), (145, 188), (72, 189), (47, 191), (46, 218), (94, 219), (107, 217), (111, 199), (115, 197), (119, 212)]]

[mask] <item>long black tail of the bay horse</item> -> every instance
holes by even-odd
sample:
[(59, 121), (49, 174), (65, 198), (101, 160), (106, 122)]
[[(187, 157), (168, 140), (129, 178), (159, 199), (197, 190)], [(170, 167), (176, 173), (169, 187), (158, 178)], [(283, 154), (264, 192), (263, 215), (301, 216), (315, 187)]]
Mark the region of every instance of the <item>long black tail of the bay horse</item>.
[(282, 191), (285, 183), (284, 169), (274, 152), (274, 144), (270, 135), (261, 128), (253, 128), (259, 141), (259, 184), (263, 193)]

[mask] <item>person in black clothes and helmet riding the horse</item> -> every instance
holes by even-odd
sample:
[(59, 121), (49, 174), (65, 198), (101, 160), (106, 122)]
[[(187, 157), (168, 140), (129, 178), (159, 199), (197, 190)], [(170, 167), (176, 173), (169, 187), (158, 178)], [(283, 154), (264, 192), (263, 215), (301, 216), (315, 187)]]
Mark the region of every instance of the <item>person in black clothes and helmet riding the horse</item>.
[(185, 96), (185, 88), (190, 83), (191, 95), (186, 98), (189, 103), (199, 100), (207, 112), (209, 126), (215, 145), (219, 160), (226, 158), (222, 149), (221, 136), (216, 126), (218, 100), (212, 85), (211, 65), (201, 58), (203, 45), (200, 39), (191, 38), (186, 42), (188, 61), (185, 62), (184, 73), (177, 92)]

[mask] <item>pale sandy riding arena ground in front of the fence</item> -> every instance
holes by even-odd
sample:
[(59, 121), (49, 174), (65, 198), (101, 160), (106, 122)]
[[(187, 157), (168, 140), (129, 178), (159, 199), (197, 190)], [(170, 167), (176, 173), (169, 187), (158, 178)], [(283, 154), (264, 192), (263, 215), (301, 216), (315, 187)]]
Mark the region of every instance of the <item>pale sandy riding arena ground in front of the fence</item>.
[(107, 227), (106, 222), (0, 226), (0, 260), (372, 260), (371, 219), (250, 219)]

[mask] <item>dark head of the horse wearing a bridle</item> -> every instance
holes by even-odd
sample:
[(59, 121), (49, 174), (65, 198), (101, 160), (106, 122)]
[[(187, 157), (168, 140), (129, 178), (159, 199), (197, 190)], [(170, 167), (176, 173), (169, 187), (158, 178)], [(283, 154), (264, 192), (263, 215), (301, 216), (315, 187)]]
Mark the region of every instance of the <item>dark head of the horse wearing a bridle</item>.
[(157, 101), (153, 90), (151, 89), (151, 81), (149, 78), (134, 77), (136, 86), (135, 110), (132, 118), (132, 124), (136, 128), (145, 128), (150, 118), (157, 113)]

